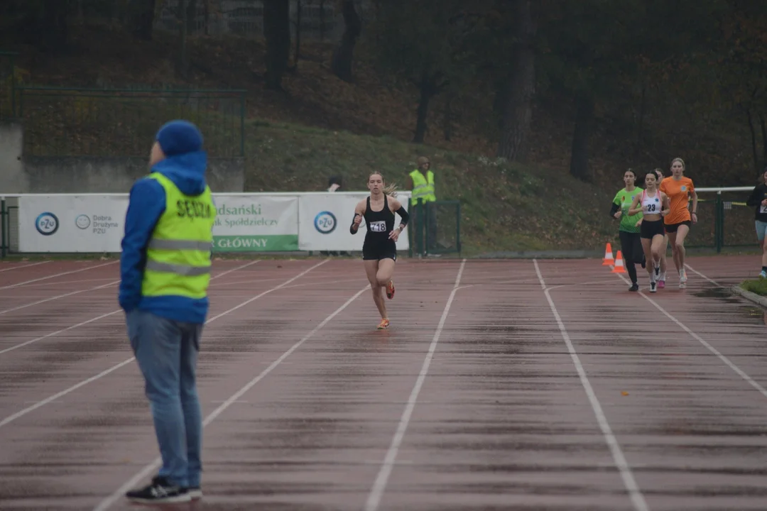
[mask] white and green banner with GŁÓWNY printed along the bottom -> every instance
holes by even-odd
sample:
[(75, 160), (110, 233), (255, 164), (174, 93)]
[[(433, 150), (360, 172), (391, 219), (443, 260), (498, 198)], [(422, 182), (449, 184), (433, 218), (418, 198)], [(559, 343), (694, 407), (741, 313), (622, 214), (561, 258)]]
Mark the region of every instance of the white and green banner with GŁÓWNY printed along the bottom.
[(214, 252), (298, 251), (298, 196), (216, 194)]

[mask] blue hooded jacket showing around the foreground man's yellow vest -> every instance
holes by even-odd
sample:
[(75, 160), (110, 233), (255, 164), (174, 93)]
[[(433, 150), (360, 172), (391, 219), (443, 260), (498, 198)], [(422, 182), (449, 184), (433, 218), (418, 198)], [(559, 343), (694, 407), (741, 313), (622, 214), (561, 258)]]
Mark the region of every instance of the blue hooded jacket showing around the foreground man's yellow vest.
[[(186, 152), (156, 163), (152, 172), (166, 176), (183, 194), (196, 196), (205, 191), (207, 165), (206, 152)], [(165, 208), (165, 190), (155, 179), (139, 179), (130, 188), (120, 259), (120, 307), (126, 313), (138, 309), (174, 321), (205, 323), (209, 306), (207, 297), (141, 295), (146, 246)]]

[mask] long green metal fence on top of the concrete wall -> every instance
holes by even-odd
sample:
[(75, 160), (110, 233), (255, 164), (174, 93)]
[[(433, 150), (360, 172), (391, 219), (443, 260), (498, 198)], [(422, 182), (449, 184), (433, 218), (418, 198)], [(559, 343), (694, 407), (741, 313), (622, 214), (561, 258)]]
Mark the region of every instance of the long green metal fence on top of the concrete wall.
[(196, 123), (212, 158), (245, 156), (245, 90), (16, 87), (31, 156), (146, 156), (173, 119)]

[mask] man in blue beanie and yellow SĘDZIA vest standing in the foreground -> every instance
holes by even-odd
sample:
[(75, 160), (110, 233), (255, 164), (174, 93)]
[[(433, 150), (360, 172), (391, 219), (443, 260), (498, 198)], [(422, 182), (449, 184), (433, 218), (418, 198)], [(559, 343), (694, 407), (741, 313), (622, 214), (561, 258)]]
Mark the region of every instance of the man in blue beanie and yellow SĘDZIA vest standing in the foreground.
[(157, 133), (150, 174), (130, 189), (118, 300), (163, 460), (148, 486), (126, 493), (137, 503), (202, 496), (196, 366), (216, 219), (206, 167), (199, 129), (171, 121)]

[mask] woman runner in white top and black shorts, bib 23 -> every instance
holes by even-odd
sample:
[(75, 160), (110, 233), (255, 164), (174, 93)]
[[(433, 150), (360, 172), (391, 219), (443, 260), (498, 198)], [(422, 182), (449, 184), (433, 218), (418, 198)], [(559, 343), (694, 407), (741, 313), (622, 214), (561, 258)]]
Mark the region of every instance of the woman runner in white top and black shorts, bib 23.
[(657, 277), (660, 277), (660, 247), (663, 245), (663, 215), (669, 211), (669, 198), (658, 190), (655, 172), (644, 176), (644, 192), (634, 197), (629, 215), (641, 211), (643, 218), (640, 228), (644, 257), (647, 259), (647, 273), (650, 274), (650, 293), (656, 292)]

